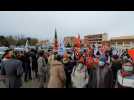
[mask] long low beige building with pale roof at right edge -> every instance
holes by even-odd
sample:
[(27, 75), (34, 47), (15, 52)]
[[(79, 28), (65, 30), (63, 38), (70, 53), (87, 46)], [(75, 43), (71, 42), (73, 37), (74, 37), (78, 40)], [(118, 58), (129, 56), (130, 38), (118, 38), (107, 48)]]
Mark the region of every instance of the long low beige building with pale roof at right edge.
[(133, 36), (120, 36), (112, 37), (111, 40), (112, 47), (129, 49), (134, 47), (134, 35)]

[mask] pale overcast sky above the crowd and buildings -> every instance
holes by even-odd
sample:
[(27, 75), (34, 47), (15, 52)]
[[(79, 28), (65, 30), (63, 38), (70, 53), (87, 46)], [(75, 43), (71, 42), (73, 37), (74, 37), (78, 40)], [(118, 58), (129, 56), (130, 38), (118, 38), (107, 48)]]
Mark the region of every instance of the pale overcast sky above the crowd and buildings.
[(53, 39), (55, 28), (59, 38), (100, 32), (109, 38), (134, 35), (134, 11), (0, 11), (0, 35)]

